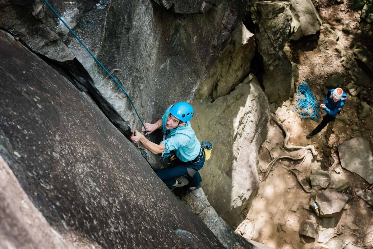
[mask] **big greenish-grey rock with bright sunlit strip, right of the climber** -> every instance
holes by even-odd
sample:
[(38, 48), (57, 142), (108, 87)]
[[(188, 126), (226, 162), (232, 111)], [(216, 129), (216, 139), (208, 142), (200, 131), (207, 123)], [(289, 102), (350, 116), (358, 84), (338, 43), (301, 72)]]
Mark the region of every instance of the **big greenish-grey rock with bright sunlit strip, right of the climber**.
[(202, 186), (216, 212), (233, 226), (258, 190), (258, 148), (269, 122), (267, 98), (250, 74), (230, 94), (213, 103), (195, 100), (193, 107), (203, 113), (192, 119), (198, 139), (213, 145), (200, 170)]

